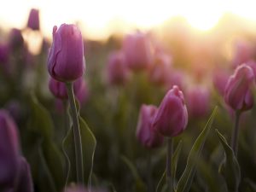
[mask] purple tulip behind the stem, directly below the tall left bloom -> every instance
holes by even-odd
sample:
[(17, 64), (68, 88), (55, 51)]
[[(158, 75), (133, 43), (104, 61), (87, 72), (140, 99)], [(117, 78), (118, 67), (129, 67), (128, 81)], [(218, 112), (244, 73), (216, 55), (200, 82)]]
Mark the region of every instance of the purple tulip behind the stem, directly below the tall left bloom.
[[(74, 82), (73, 92), (75, 95), (77, 95), (79, 90), (81, 89), (83, 81), (84, 81), (84, 78), (81, 77)], [(50, 78), (49, 79), (49, 90), (55, 97), (57, 97), (59, 99), (68, 99), (66, 84), (61, 81), (57, 81), (53, 78)]]

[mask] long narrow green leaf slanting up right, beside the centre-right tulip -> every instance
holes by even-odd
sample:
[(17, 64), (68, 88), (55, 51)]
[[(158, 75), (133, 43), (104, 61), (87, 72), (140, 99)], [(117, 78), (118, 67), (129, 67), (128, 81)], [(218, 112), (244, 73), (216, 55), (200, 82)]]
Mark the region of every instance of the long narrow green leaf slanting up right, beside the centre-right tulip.
[(176, 192), (189, 191), (193, 178), (195, 176), (197, 162), (201, 156), (201, 150), (207, 140), (207, 136), (209, 134), (209, 131), (211, 130), (212, 122), (216, 113), (217, 113), (217, 107), (214, 108), (211, 117), (207, 121), (207, 125), (205, 126), (203, 131), (201, 131), (201, 134), (199, 135), (199, 137), (197, 137), (197, 139), (195, 140), (195, 143), (189, 152), (187, 166), (185, 167), (183, 175), (180, 177), (177, 183)]

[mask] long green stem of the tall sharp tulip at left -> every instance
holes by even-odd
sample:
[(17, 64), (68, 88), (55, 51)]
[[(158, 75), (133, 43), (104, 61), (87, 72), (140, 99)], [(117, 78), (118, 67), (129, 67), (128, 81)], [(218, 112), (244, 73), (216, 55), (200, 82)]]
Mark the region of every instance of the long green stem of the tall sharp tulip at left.
[(76, 156), (77, 181), (79, 184), (84, 184), (83, 150), (79, 128), (78, 111), (76, 108), (75, 98), (73, 94), (73, 83), (67, 83), (66, 86), (69, 104), (71, 108), (71, 116), (73, 119), (73, 139)]

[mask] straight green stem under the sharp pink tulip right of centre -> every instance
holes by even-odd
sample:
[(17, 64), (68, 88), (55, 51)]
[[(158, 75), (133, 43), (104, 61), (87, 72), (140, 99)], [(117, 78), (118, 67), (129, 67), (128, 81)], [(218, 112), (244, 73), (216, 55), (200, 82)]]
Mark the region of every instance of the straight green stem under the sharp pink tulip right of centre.
[(166, 183), (167, 191), (173, 191), (173, 182), (172, 182), (172, 149), (173, 141), (172, 137), (167, 138), (167, 155), (166, 155)]

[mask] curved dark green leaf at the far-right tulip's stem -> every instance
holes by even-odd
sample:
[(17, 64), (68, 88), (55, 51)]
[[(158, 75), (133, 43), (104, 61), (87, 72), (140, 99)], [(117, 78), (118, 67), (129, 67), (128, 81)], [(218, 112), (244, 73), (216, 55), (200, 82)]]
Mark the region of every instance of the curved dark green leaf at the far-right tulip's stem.
[(233, 149), (230, 148), (225, 137), (218, 130), (215, 131), (225, 152), (224, 162), (220, 165), (218, 171), (224, 175), (228, 188), (231, 191), (237, 191), (241, 181), (239, 163), (236, 160)]

